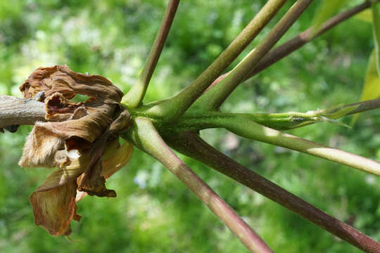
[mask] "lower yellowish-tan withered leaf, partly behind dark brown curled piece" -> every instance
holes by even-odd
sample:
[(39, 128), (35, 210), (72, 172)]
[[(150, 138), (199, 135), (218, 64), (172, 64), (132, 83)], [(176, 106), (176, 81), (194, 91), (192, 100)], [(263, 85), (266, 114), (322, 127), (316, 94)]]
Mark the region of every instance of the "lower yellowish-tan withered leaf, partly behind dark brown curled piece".
[[(126, 142), (120, 146), (118, 139), (109, 141), (101, 158), (101, 176), (108, 179), (127, 164), (132, 153), (133, 146), (130, 143)], [(82, 154), (65, 167), (53, 171), (30, 195), (35, 223), (42, 225), (52, 235), (67, 235), (70, 233), (71, 219), (80, 219), (75, 212), (77, 207), (73, 205), (72, 197), (78, 202), (87, 195), (86, 192), (77, 191), (76, 182), (77, 177), (88, 167), (90, 160), (88, 153)], [(74, 185), (75, 191), (72, 190)]]

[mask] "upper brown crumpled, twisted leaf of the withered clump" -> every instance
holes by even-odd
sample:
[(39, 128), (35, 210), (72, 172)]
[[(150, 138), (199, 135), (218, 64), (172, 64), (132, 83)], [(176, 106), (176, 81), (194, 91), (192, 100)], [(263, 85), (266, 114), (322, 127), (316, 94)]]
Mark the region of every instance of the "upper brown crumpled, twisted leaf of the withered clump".
[[(45, 118), (55, 121), (34, 125), (19, 163), (22, 167), (55, 167), (58, 150), (89, 148), (113, 122), (122, 98), (122, 91), (108, 79), (72, 72), (66, 65), (39, 67), (20, 90), (25, 98), (44, 91)], [(85, 103), (68, 100), (76, 94), (90, 98)]]

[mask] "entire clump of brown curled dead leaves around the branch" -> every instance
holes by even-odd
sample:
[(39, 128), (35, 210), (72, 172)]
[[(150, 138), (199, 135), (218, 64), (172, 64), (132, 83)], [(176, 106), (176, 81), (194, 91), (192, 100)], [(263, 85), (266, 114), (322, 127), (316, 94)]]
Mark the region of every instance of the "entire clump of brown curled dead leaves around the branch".
[[(59, 168), (30, 195), (34, 219), (51, 235), (67, 235), (70, 221), (80, 219), (77, 190), (116, 196), (105, 182), (132, 155), (132, 145), (118, 144), (118, 134), (128, 129), (132, 120), (119, 104), (122, 92), (118, 87), (104, 77), (72, 72), (65, 65), (39, 67), (20, 90), (25, 98), (44, 93), (48, 122), (34, 125), (19, 164)], [(89, 99), (72, 102), (77, 94)], [(112, 155), (102, 158), (103, 153)]]

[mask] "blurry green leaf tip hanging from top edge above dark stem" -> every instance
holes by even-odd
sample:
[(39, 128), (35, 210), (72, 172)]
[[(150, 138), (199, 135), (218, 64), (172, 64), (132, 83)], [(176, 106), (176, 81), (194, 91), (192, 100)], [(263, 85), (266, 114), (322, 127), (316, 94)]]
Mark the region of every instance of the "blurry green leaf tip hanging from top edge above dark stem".
[(315, 14), (312, 25), (313, 32), (312, 36), (319, 30), (319, 27), (329, 18), (331, 18), (336, 11), (338, 11), (344, 4), (346, 4), (347, 0), (323, 0), (321, 4), (319, 4), (319, 8), (317, 9), (317, 13)]

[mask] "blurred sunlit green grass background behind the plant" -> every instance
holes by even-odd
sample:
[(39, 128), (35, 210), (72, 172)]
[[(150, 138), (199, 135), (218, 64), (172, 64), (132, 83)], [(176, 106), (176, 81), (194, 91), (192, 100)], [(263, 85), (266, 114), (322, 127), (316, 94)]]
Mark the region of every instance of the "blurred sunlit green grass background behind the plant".
[[(281, 41), (310, 26), (317, 2)], [(350, 5), (360, 2), (350, 1)], [(57, 64), (101, 74), (128, 91), (144, 65), (166, 3), (0, 1), (0, 93), (21, 96), (18, 86), (34, 69)], [(172, 96), (194, 80), (264, 3), (183, 1), (146, 102)], [(278, 19), (279, 15), (269, 27)], [(305, 112), (356, 102), (373, 48), (371, 29), (367, 22), (348, 20), (241, 84), (223, 110)], [(379, 110), (362, 113), (353, 129), (321, 123), (289, 132), (380, 160), (379, 115)], [(343, 122), (349, 123), (350, 117)], [(22, 126), (16, 134), (0, 134), (1, 252), (247, 252), (175, 176), (139, 150), (108, 180), (108, 188), (115, 189), (118, 197), (85, 197), (78, 207), (82, 220), (72, 222), (72, 241), (52, 237), (34, 226), (27, 198), (50, 169), (23, 169), (17, 164), (30, 129)], [(201, 134), (246, 167), (380, 240), (380, 180), (375, 176), (221, 129)], [(183, 158), (275, 252), (359, 252), (271, 200)]]

